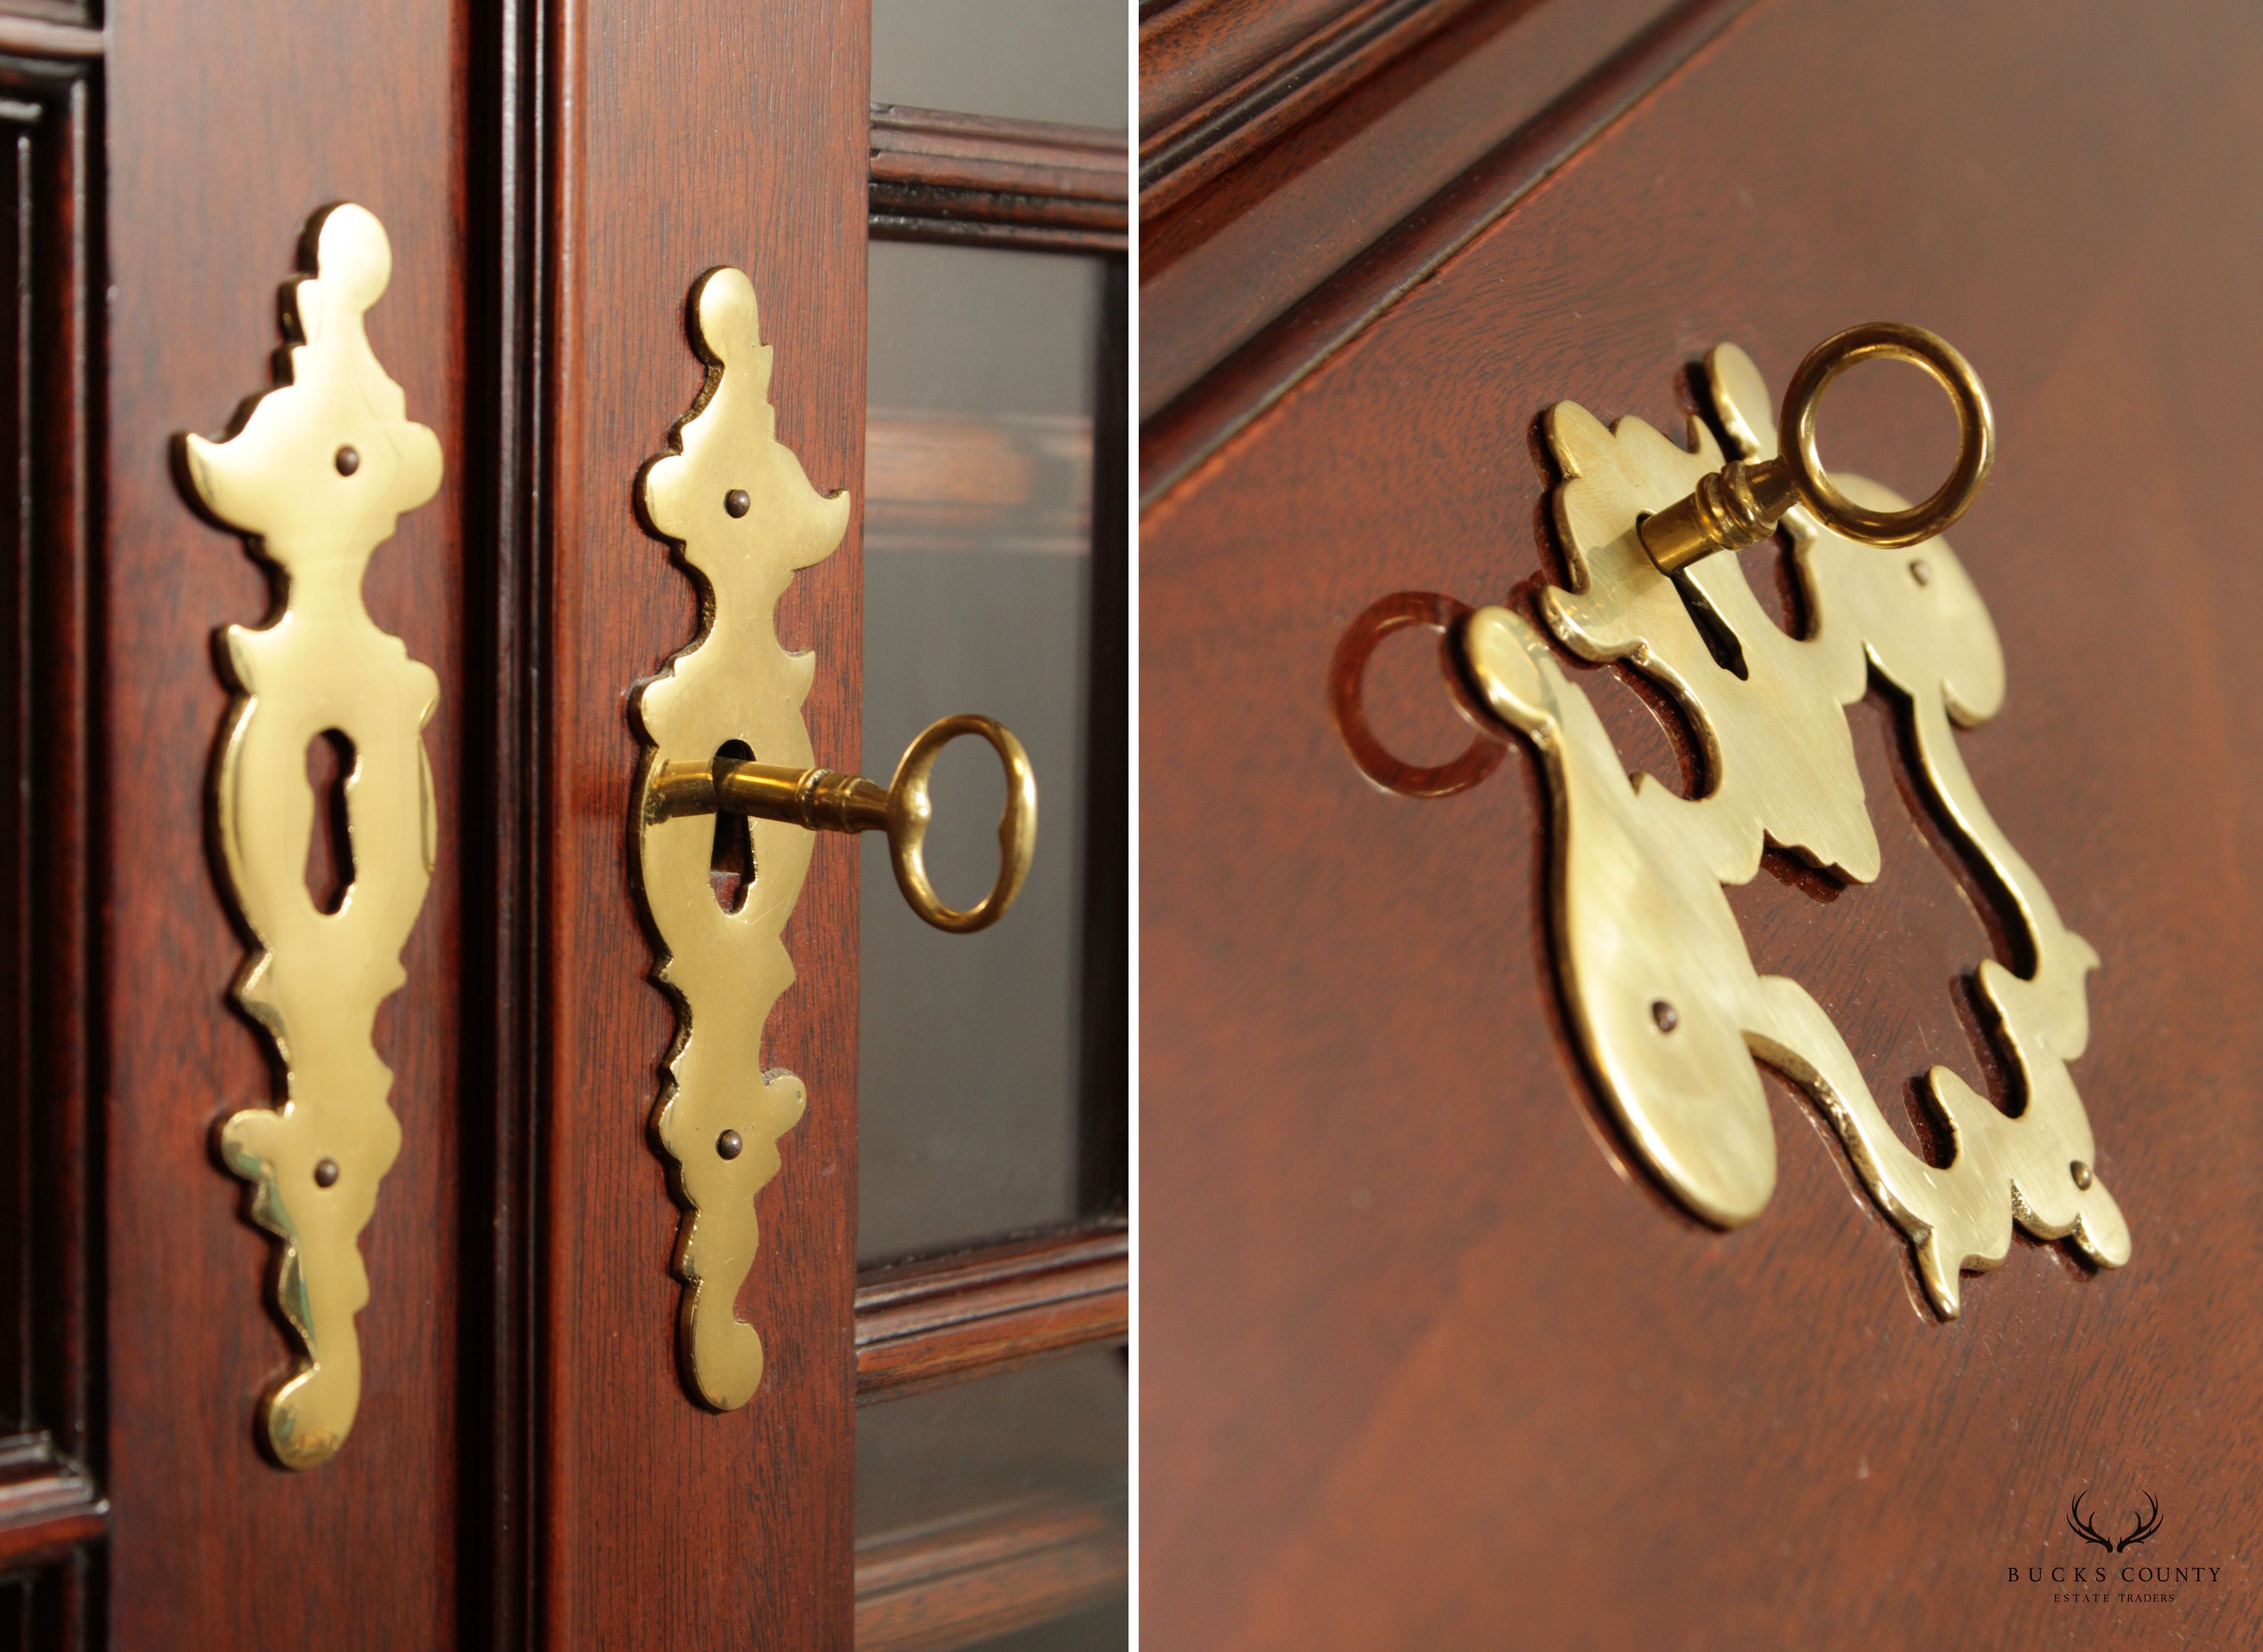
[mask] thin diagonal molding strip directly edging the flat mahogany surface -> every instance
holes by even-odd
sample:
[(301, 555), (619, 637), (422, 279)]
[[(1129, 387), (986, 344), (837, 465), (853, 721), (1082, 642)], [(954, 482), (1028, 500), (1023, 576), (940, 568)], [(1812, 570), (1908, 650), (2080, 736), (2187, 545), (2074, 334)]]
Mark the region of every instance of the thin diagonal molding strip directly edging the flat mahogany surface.
[[(1306, 373), (1365, 333), (1595, 134), (1690, 61), (1747, 5), (1752, 0), (1681, 0), (1561, 95), (1539, 106), (1530, 120), (1516, 124), (1475, 165), (1442, 181), (1444, 186), (1417, 210), (1378, 226), (1365, 249), (1322, 276), (1247, 342), (1229, 346), (1211, 364), (1188, 369), (1181, 362), (1165, 373), (1186, 380), (1188, 371), (1195, 371), (1195, 378), (1141, 425), (1141, 507), (1152, 507)], [(1202, 206), (1197, 199), (1188, 210)], [(1181, 319), (1172, 315), (1174, 306), (1154, 303), (1163, 294), (1154, 290), (1159, 278), (1147, 278), (1145, 263), (1143, 281), (1147, 281), (1141, 287), (1145, 392), (1156, 351), (1172, 349), (1161, 339), (1181, 326)], [(1184, 326), (1193, 333), (1199, 324)], [(1208, 342), (1181, 339), (1181, 351), (1186, 360), (1199, 362), (1206, 349), (1224, 342), (1224, 335)]]

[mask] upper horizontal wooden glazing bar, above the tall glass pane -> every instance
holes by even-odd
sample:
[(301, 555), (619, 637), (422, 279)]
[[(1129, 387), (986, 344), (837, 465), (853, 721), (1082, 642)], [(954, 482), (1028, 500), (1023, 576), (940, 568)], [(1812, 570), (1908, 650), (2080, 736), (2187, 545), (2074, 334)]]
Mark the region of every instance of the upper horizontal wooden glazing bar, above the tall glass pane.
[(1129, 170), (1120, 131), (874, 104), (869, 226), (883, 240), (1120, 253)]

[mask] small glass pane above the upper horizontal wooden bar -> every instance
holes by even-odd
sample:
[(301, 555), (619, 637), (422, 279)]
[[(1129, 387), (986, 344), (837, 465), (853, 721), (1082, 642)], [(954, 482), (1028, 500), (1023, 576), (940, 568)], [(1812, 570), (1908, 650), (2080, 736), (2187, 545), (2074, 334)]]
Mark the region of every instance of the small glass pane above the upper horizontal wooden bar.
[(871, 0), (871, 100), (1129, 124), (1122, 0)]

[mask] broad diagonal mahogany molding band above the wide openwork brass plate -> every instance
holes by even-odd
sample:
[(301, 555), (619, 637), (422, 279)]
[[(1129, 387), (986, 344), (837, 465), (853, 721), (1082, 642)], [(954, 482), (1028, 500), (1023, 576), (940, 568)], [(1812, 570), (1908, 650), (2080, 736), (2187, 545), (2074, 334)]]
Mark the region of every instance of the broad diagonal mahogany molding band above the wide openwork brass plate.
[(1141, 235), (1141, 493), (1374, 321), (1747, 0), (1489, 5)]

